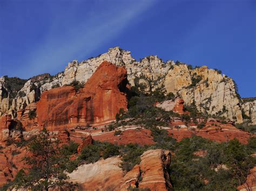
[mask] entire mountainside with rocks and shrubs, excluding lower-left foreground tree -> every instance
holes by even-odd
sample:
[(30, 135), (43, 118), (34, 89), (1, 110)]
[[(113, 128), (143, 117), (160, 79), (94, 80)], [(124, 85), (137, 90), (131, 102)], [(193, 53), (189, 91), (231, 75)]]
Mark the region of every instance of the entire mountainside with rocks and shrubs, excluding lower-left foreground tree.
[(55, 76), (2, 77), (0, 89), (3, 189), (20, 186), (16, 175), (28, 167), (23, 157), (42, 129), (51, 144), (66, 145), (62, 171), (82, 190), (256, 185), (247, 178), (255, 166), (256, 102), (241, 99), (218, 69), (157, 56), (136, 61), (114, 47)]

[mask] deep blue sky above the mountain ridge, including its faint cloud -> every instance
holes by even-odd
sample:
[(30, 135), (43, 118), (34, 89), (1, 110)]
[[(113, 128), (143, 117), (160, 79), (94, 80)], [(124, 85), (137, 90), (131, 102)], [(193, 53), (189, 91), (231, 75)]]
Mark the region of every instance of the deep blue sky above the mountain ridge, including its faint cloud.
[(255, 0), (0, 0), (0, 76), (56, 74), (114, 46), (218, 68), (256, 96)]

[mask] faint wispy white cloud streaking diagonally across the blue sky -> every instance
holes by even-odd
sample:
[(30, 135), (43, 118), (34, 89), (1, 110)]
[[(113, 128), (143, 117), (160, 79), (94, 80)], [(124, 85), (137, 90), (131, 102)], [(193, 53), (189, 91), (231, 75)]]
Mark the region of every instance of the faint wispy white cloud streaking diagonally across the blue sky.
[[(96, 9), (90, 10), (79, 22), (70, 24), (70, 21), (67, 21), (69, 26), (60, 33), (58, 27), (65, 24), (65, 21), (59, 23), (62, 20), (59, 16), (53, 18), (45, 40), (28, 56), (27, 62), (31, 73), (55, 71), (60, 66), (66, 65), (63, 62), (89, 57), (102, 44), (112, 40), (125, 27), (136, 22), (154, 4), (154, 0), (147, 0), (127, 1), (118, 7), (114, 6), (117, 2), (113, 1), (112, 5), (107, 5), (108, 8), (112, 6), (111, 9), (103, 9), (100, 12)], [(72, 9), (76, 10), (77, 7)], [(70, 13), (74, 11), (67, 12)]]

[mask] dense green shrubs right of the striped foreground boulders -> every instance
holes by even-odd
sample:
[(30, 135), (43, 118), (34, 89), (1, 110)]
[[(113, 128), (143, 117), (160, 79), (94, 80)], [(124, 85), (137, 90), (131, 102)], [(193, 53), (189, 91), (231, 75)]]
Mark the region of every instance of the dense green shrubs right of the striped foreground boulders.
[[(236, 190), (255, 165), (255, 158), (250, 156), (255, 152), (255, 143), (255, 138), (248, 145), (237, 139), (227, 143), (196, 136), (183, 139), (176, 144), (170, 166), (174, 190)], [(205, 157), (193, 154), (202, 150), (207, 153)]]

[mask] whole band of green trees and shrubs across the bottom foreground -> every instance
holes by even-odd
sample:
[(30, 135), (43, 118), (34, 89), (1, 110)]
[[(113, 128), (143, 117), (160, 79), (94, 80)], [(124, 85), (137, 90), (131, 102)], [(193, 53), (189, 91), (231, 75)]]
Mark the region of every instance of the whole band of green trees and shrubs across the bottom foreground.
[[(226, 143), (215, 143), (205, 138), (193, 136), (181, 142), (168, 135), (164, 129), (151, 126), (154, 145), (138, 144), (114, 145), (94, 141), (83, 148), (77, 159), (78, 144), (70, 142), (59, 146), (58, 139), (52, 138), (46, 129), (28, 143), (31, 153), (23, 160), (29, 168), (21, 169), (14, 181), (10, 181), (1, 190), (8, 188), (25, 188), (32, 190), (49, 190), (50, 188), (72, 189), (77, 185), (69, 182), (66, 172), (72, 172), (80, 164), (96, 162), (115, 155), (122, 156), (120, 167), (130, 171), (139, 164), (140, 155), (146, 150), (162, 148), (175, 153), (170, 168), (174, 190), (233, 190), (247, 183), (250, 169), (256, 164), (252, 153), (256, 152), (256, 137), (252, 137), (247, 145), (237, 139)], [(204, 155), (194, 154), (203, 151)]]

